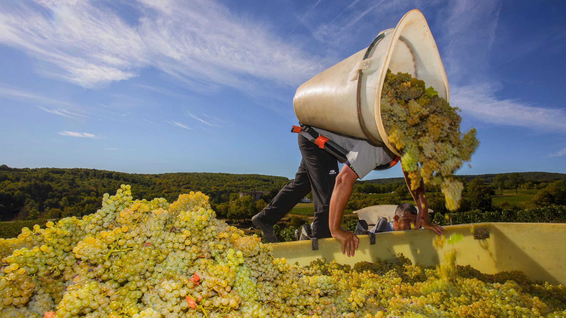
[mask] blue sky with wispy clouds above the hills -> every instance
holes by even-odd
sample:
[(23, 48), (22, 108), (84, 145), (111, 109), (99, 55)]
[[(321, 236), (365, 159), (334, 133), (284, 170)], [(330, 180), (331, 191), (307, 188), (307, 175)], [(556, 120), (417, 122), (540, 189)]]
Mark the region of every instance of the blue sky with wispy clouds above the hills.
[(566, 173), (566, 4), (521, 0), (2, 1), (0, 164), (292, 178), (297, 87), (413, 8), (478, 130), (458, 173)]

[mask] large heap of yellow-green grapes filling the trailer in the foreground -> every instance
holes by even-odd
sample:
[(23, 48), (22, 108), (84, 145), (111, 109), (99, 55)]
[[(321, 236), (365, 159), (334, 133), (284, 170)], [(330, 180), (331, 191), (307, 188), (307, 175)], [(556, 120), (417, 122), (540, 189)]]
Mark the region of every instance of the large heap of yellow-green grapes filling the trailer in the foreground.
[(457, 267), (453, 250), (436, 269), (402, 255), (353, 268), (290, 265), (271, 251), (218, 220), (200, 192), (132, 200), (122, 185), (96, 213), (0, 239), (0, 317), (566, 315), (563, 286)]

